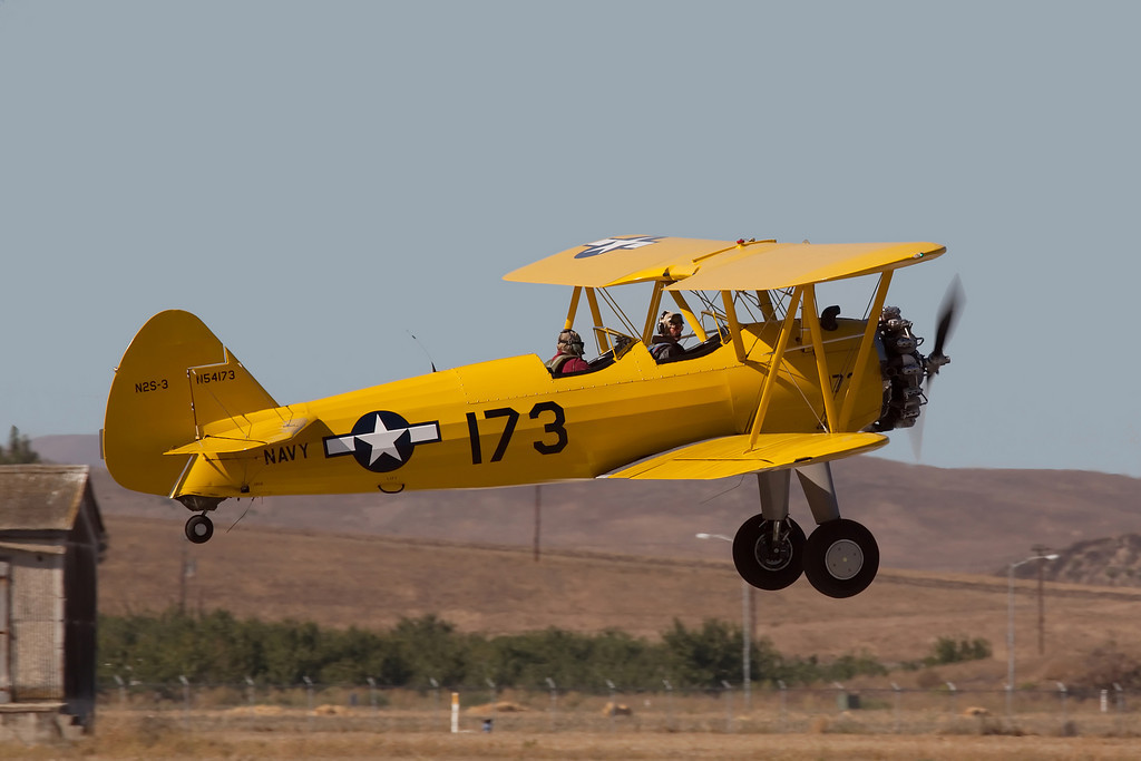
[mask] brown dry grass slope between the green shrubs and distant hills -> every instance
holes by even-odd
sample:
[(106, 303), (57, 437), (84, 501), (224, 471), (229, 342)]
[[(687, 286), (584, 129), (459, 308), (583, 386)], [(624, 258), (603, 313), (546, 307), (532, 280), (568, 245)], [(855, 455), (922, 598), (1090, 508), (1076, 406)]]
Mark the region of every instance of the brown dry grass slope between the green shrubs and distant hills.
[[(550, 626), (621, 629), (654, 638), (674, 618), (741, 621), (742, 584), (728, 560), (650, 559), (523, 548), (395, 540), (372, 535), (238, 525), (191, 545), (180, 523), (105, 517), (110, 550), (100, 567), (104, 613), (225, 608), (240, 617), (311, 620), (388, 628), (436, 614), (461, 630), (510, 633)], [(1018, 581), (1019, 687), (1081, 681), (1104, 651), (1141, 656), (1141, 590), (1045, 585), (1045, 653), (1038, 654), (1037, 586)], [(882, 569), (864, 593), (834, 600), (804, 580), (756, 592), (756, 634), (791, 656), (867, 653), (884, 663), (920, 659), (940, 637), (982, 638), (993, 658), (930, 672), (898, 673), (904, 687), (953, 680), (1001, 688), (1006, 675), (1006, 580)], [(885, 685), (885, 683), (884, 683)]]

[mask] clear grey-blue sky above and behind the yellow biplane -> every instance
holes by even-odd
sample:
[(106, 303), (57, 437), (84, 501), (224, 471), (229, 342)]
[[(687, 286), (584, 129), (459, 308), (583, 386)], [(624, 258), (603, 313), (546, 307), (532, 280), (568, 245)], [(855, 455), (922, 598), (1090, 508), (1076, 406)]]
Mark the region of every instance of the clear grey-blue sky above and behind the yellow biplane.
[[(956, 275), (968, 299), (920, 461), (1141, 476), (1139, 26), (1095, 1), (0, 0), (0, 427), (97, 431), (163, 309), (304, 402), (426, 355), (545, 358), (568, 292), (501, 277), (598, 238), (933, 241), (889, 298), (929, 337)], [(877, 455), (915, 461), (906, 432)]]

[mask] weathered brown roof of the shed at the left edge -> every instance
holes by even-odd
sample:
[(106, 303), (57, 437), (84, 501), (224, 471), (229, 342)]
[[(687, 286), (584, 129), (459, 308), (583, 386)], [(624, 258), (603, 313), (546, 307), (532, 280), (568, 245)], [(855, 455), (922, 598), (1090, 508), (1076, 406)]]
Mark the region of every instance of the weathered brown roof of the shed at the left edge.
[(0, 531), (71, 531), (88, 475), (87, 465), (0, 465)]

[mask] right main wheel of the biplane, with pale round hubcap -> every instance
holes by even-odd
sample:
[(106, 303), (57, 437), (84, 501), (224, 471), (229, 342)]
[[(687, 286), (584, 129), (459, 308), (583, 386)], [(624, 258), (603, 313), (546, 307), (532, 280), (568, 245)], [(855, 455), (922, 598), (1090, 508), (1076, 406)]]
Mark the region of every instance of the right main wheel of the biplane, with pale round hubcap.
[(844, 598), (867, 589), (880, 569), (880, 547), (855, 520), (820, 524), (804, 543), (804, 575), (817, 591)]

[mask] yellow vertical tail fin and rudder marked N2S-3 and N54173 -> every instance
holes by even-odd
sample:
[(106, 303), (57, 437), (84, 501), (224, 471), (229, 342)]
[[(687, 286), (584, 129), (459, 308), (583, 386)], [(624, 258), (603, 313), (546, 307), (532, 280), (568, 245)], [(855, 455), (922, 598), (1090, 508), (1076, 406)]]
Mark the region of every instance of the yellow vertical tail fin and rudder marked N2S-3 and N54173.
[(201, 319), (162, 311), (139, 330), (115, 370), (103, 458), (121, 486), (169, 496), (193, 455), (164, 452), (276, 406)]

